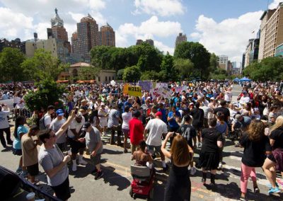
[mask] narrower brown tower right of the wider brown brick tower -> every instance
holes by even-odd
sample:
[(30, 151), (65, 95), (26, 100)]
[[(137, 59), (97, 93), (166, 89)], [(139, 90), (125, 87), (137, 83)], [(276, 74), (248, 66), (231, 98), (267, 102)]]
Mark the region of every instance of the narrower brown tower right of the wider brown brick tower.
[(115, 47), (115, 31), (108, 23), (100, 27), (98, 35), (98, 45)]

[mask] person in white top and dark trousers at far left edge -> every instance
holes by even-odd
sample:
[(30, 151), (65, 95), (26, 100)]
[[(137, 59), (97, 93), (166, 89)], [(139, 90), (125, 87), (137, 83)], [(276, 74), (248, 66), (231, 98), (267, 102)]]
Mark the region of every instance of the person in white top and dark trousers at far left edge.
[[(8, 122), (8, 115), (10, 114), (10, 109), (6, 105), (0, 105), (0, 140), (4, 148), (7, 147), (7, 144), (12, 145), (13, 141), (11, 140), (11, 130)], [(6, 140), (4, 138), (4, 132), (6, 133)]]

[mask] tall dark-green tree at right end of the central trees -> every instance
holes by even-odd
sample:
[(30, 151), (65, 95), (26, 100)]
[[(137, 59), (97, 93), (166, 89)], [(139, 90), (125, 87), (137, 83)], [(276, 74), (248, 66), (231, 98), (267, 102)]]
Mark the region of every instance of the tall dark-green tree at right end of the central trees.
[(181, 42), (175, 48), (174, 57), (190, 59), (194, 64), (194, 76), (200, 76), (201, 78), (209, 76), (210, 54), (199, 42)]

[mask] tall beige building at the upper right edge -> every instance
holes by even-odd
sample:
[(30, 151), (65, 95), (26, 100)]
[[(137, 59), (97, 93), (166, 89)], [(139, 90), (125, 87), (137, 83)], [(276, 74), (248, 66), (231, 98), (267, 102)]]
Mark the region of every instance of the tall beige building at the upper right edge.
[(259, 60), (274, 57), (276, 47), (283, 43), (283, 4), (265, 11), (260, 20)]

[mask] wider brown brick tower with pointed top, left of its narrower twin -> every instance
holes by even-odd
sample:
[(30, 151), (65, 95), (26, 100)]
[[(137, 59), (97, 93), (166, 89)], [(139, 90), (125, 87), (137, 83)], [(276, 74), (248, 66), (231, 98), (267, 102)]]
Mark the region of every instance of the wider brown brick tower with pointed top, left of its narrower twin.
[(91, 48), (98, 45), (98, 24), (88, 14), (88, 16), (81, 18), (81, 22), (77, 23), (76, 26), (77, 39), (75, 37), (75, 39), (72, 39), (72, 42), (78, 40), (78, 45), (73, 47), (73, 53), (79, 54), (81, 57), (90, 58), (89, 52)]

